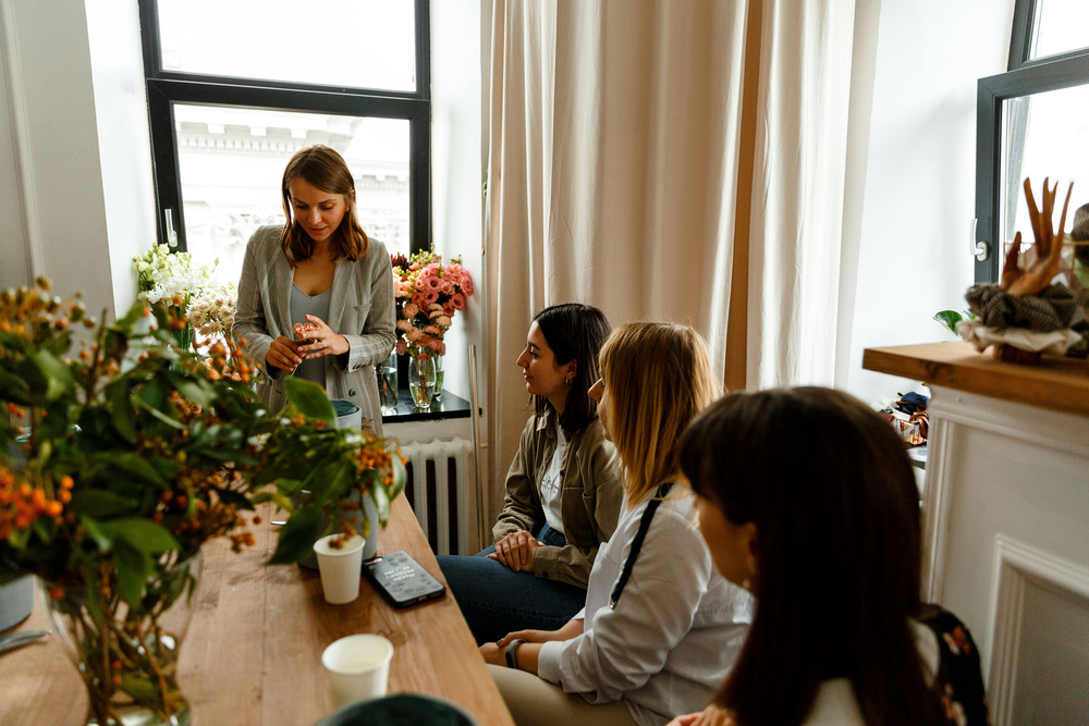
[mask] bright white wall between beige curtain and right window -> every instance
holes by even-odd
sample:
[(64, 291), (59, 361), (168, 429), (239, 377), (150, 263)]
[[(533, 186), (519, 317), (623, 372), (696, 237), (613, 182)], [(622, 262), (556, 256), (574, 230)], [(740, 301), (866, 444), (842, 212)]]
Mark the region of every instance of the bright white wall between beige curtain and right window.
[(1006, 69), (1013, 0), (856, 5), (856, 73), (871, 70), (873, 86), (852, 97), (844, 251), (857, 268), (844, 275), (836, 382), (884, 401), (917, 382), (864, 371), (862, 350), (951, 340), (931, 317), (965, 308), (976, 81)]

